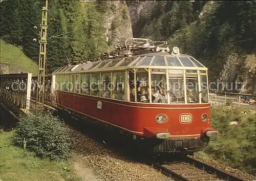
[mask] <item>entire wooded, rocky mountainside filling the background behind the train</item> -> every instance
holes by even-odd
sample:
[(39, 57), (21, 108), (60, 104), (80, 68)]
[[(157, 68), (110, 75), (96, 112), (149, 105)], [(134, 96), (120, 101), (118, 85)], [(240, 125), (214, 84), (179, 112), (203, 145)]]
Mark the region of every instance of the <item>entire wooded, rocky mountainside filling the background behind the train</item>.
[[(167, 1), (159, 6), (163, 2), (49, 1), (49, 72), (68, 59), (88, 59), (111, 51), (117, 43), (133, 36), (165, 40), (178, 46), (182, 53), (194, 56), (209, 68), (210, 81), (245, 82), (248, 92), (255, 90), (255, 1)], [(43, 3), (39, 0), (1, 3), (1, 38), (20, 46), (35, 62), (38, 61), (39, 44), (32, 39), (39, 39)], [(128, 9), (120, 9), (115, 17), (109, 15), (123, 5)], [(154, 7), (132, 21), (132, 30), (116, 30), (120, 22)], [(112, 17), (106, 18), (109, 16)], [(109, 27), (107, 35), (104, 34), (104, 22)], [(37, 31), (34, 26), (38, 27)], [(78, 29), (81, 30), (74, 31)], [(52, 37), (67, 32), (72, 33), (61, 38)], [(116, 40), (120, 36), (123, 37)]]

